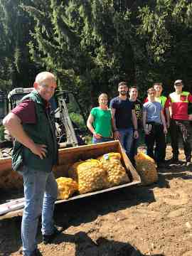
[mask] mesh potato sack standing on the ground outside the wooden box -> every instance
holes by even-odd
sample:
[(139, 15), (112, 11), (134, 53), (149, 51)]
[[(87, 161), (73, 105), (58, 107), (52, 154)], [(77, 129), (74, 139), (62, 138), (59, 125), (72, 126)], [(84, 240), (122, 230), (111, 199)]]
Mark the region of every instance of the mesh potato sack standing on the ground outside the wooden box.
[(138, 153), (137, 156), (134, 156), (134, 159), (136, 161), (137, 172), (144, 185), (149, 185), (158, 180), (154, 159), (151, 159), (150, 156), (147, 156), (142, 152)]

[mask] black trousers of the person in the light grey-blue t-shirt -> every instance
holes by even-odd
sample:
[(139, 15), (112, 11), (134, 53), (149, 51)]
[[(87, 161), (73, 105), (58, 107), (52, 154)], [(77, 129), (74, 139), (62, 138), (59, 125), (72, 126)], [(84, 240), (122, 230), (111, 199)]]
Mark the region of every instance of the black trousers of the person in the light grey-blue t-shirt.
[[(154, 122), (151, 122), (150, 124), (151, 132), (145, 135), (147, 154), (158, 164), (164, 161), (166, 155), (166, 137), (164, 134), (164, 126)], [(155, 150), (154, 144), (156, 144)]]

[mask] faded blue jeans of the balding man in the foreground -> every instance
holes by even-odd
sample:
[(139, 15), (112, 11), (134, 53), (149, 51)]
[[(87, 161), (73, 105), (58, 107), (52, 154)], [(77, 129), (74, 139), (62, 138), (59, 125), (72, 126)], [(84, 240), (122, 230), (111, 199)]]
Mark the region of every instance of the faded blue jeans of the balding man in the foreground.
[(31, 256), (33, 250), (37, 248), (36, 233), (41, 213), (42, 234), (53, 233), (53, 210), (58, 196), (58, 186), (52, 172), (46, 173), (23, 166), (20, 174), (23, 175), (26, 200), (21, 223), (23, 255)]

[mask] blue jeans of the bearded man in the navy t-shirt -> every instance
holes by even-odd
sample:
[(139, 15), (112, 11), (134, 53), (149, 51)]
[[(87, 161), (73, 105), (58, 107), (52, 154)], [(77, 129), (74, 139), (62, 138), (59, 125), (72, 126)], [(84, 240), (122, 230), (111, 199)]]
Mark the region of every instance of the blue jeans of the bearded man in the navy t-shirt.
[(131, 158), (130, 151), (131, 151), (132, 142), (133, 142), (133, 128), (118, 129), (118, 131), (120, 134), (119, 142), (122, 144), (122, 147), (125, 153), (130, 159)]

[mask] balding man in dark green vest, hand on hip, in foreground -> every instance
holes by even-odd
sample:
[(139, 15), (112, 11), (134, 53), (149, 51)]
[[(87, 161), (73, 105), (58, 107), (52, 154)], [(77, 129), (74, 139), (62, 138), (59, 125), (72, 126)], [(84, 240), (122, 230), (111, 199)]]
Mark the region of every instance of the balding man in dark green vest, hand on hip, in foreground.
[(53, 223), (58, 186), (52, 172), (58, 159), (58, 146), (48, 102), (56, 87), (52, 73), (39, 73), (34, 82), (34, 90), (23, 97), (21, 103), (3, 121), (15, 138), (13, 169), (23, 176), (25, 208), (21, 238), (25, 256), (41, 255), (36, 242), (38, 218), (41, 214), (43, 242), (51, 242), (59, 233)]

